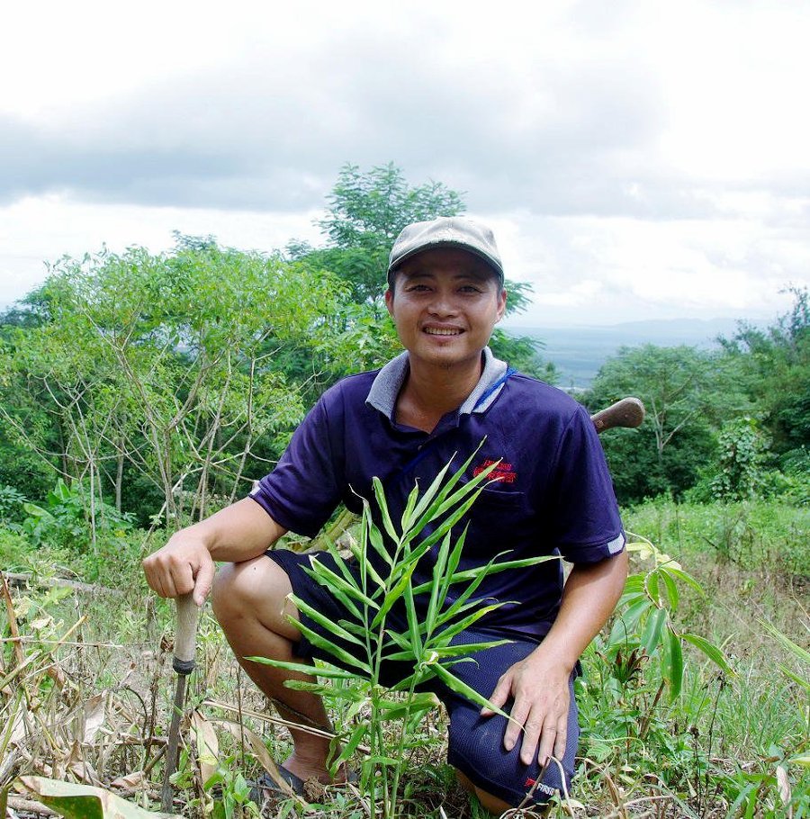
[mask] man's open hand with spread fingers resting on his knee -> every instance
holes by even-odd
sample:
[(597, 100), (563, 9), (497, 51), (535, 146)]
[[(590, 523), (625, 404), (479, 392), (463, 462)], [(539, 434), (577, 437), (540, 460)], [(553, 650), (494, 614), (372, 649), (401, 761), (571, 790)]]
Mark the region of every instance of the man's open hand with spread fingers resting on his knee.
[[(545, 764), (549, 756), (563, 759), (568, 741), (568, 711), (571, 694), (566, 671), (559, 662), (550, 662), (536, 649), (526, 660), (516, 662), (501, 675), (490, 702), (503, 708), (514, 700), (511, 719), (503, 735), (503, 746), (511, 751), (523, 734), (520, 761), (530, 765), (535, 759)], [(492, 716), (483, 708), (482, 716)]]

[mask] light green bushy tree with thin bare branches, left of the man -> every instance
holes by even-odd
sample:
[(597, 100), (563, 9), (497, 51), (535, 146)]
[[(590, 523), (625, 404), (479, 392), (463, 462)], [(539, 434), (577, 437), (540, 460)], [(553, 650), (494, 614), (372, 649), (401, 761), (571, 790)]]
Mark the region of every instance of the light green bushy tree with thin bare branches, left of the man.
[(2, 349), (0, 415), (62, 476), (87, 479), (91, 516), (104, 487), (121, 507), (127, 472), (173, 522), (202, 517), (212, 492), (243, 488), (258, 448), (284, 446), (304, 406), (275, 351), (326, 346), (343, 298), (334, 277), (207, 242), (63, 259), (37, 294), (45, 319)]

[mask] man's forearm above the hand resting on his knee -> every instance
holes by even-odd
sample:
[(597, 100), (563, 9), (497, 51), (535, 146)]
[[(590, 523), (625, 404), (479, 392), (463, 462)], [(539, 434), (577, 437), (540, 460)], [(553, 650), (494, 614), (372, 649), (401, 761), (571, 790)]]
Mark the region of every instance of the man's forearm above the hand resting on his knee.
[(622, 552), (599, 563), (574, 566), (563, 589), (560, 613), (537, 651), (572, 671), (613, 613), (625, 588), (627, 563), (627, 553)]

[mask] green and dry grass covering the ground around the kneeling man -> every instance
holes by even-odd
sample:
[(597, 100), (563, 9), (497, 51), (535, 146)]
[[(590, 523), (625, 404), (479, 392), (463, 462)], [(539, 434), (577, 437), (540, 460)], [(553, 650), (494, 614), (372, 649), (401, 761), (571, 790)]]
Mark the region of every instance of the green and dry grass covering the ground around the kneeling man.
[[(707, 590), (705, 597), (683, 591), (677, 624), (722, 644), (736, 674), (727, 677), (690, 652), (680, 698), (656, 699), (657, 663), (642, 657), (625, 684), (607, 685), (612, 670), (595, 644), (583, 658), (574, 801), (551, 815), (810, 815), (808, 774), (794, 761), (808, 752), (808, 698), (778, 664), (805, 679), (807, 669), (760, 622), (806, 645), (808, 519), (807, 509), (764, 502), (654, 501), (627, 511), (629, 529), (679, 560)], [(78, 590), (51, 583), (57, 575), (81, 580), (91, 558), (35, 550), (0, 528), (0, 564), (41, 579), (9, 590), (13, 617), (0, 602), (0, 678), (15, 674), (0, 687), (0, 789), (19, 774), (84, 780), (157, 810), (174, 686), (173, 609), (148, 595), (139, 573), (141, 552), (157, 544), (145, 544), (139, 532), (128, 542), (127, 554), (103, 557), (96, 572), (103, 581), (94, 590)], [(20, 642), (9, 639), (13, 628)], [(261, 768), (251, 734), (283, 759), (286, 732), (238, 670), (207, 611), (197, 657), (189, 703), (199, 717), (196, 730), (184, 723), (177, 810), (250, 815), (244, 780)], [(338, 728), (345, 727), (341, 720), (336, 714)], [(199, 740), (209, 728), (217, 743), (212, 762)], [(444, 716), (430, 712), (405, 749), (405, 815), (482, 815), (455, 785), (445, 743)], [(368, 815), (351, 789), (312, 796), (320, 807), (306, 814), (311, 819)], [(31, 794), (12, 791), (9, 798), (20, 805)], [(293, 815), (288, 808), (277, 806), (275, 815)]]

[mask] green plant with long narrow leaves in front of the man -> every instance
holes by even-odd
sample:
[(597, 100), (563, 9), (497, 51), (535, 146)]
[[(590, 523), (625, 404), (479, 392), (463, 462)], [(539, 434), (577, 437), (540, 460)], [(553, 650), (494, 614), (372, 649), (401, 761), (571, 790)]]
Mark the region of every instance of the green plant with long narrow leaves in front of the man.
[[(447, 464), (424, 492), (420, 493), (419, 485), (415, 486), (402, 519), (397, 522), (388, 511), (382, 483), (374, 479), (377, 511), (374, 513), (371, 504), (364, 501), (360, 541), (351, 546), (356, 572), (351, 571), (334, 546), (329, 546), (329, 553), (338, 565), (338, 572), (313, 558), (311, 577), (352, 612), (351, 620), (334, 623), (293, 596), (298, 609), (331, 635), (331, 638), (323, 637), (296, 621), (296, 627), (313, 644), (335, 658), (334, 664), (320, 666), (317, 674), (344, 684), (328, 686), (299, 681), (287, 684), (327, 696), (347, 708), (345, 720), (355, 720), (355, 725), (341, 738), (343, 748), (334, 765), (348, 761), (361, 743), (369, 745), (371, 750), (361, 769), (361, 788), (371, 805), (371, 815), (377, 815), (378, 805), (384, 817), (398, 815), (400, 779), (407, 760), (404, 752), (410, 746), (419, 720), (438, 705), (434, 694), (417, 689), (428, 680), (438, 678), (477, 705), (488, 705), (485, 698), (451, 671), (456, 662), (465, 662), (469, 654), (503, 642), (453, 645), (455, 635), (501, 605), (475, 599), (475, 591), (482, 581), (493, 572), (555, 559), (505, 561), (500, 560), (503, 554), (499, 554), (480, 569), (457, 571), (466, 530), (454, 539), (453, 527), (473, 505), (494, 467), (493, 464), (473, 480), (462, 483), (461, 478), (473, 456), (449, 477), (450, 464)], [(428, 536), (421, 537), (423, 530), (434, 522), (437, 527)], [(433, 581), (414, 586), (412, 576), (417, 564), (436, 545)], [(384, 571), (378, 571), (375, 566), (383, 566)], [(462, 584), (463, 590), (457, 596), (454, 594), (453, 603), (447, 605), (450, 587), (457, 584)], [(429, 596), (424, 617), (419, 616), (415, 602), (419, 595)], [(407, 628), (396, 632), (388, 614), (401, 601), (406, 609)], [(354, 647), (352, 653), (347, 651), (347, 644)], [(289, 671), (305, 674), (312, 671), (311, 666), (300, 663), (253, 659)], [(381, 685), (381, 674), (383, 665), (392, 662), (401, 662), (401, 679), (386, 689)]]

